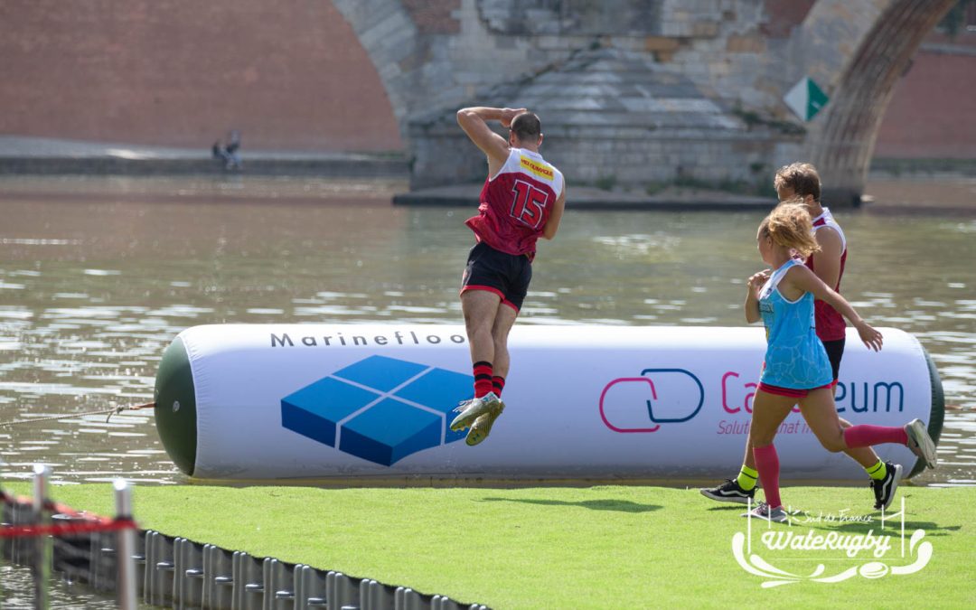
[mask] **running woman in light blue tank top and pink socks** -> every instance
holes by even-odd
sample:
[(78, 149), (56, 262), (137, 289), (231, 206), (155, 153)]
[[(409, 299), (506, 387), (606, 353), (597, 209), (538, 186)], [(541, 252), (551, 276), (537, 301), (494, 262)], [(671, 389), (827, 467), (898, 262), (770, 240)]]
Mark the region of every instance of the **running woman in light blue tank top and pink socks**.
[(802, 205), (777, 206), (759, 225), (756, 242), (766, 269), (752, 275), (746, 297), (746, 320), (762, 320), (766, 354), (752, 402), (752, 456), (766, 501), (752, 516), (786, 521), (780, 500), (780, 463), (773, 446), (776, 430), (794, 404), (820, 443), (831, 452), (881, 443), (906, 445), (928, 468), (935, 468), (935, 443), (920, 420), (904, 427), (842, 427), (834, 405), (834, 384), (827, 350), (814, 330), (814, 299), (833, 306), (847, 318), (865, 346), (881, 348), (881, 334), (854, 308), (793, 257), (818, 249), (810, 215)]

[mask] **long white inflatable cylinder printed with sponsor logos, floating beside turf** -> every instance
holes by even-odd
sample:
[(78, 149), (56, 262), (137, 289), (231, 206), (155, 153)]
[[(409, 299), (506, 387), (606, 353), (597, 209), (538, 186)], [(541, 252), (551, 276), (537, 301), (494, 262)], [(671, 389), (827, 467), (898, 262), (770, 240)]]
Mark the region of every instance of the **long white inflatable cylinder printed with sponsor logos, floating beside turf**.
[[(914, 337), (849, 331), (837, 409), (933, 437), (942, 389)], [(472, 394), (461, 326), (220, 325), (180, 334), (156, 380), (167, 452), (200, 478), (633, 480), (726, 477), (742, 461), (762, 328), (530, 326), (509, 339), (505, 413), (482, 444), (448, 427)], [(776, 439), (787, 479), (862, 479), (798, 412)], [(897, 445), (884, 460), (916, 466)]]

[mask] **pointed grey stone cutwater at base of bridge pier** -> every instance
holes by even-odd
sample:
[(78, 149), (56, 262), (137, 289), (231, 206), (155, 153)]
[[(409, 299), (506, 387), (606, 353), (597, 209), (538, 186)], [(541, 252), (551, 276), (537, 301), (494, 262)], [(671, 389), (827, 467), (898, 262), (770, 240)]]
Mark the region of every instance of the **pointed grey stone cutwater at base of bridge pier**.
[[(619, 49), (580, 52), (482, 100), (507, 101), (540, 114), (542, 152), (575, 184), (765, 189), (771, 160), (802, 140), (799, 130), (748, 122), (647, 54)], [(491, 126), (507, 135), (497, 122)], [(411, 121), (409, 140), (413, 187), (484, 180), (484, 155), (468, 142), (454, 112)]]

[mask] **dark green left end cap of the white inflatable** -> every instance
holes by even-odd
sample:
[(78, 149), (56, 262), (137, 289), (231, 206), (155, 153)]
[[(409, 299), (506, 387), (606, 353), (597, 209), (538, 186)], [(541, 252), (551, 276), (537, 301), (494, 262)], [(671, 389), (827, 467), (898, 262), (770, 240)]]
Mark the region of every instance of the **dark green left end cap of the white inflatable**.
[(196, 466), (196, 391), (183, 340), (177, 337), (156, 373), (156, 431), (170, 459), (186, 474)]

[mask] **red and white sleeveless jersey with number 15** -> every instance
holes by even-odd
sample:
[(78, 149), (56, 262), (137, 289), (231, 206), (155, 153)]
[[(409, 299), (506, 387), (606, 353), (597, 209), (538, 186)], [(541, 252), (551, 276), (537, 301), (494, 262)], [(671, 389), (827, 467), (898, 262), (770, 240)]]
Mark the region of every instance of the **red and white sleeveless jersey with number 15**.
[(541, 154), (512, 148), (498, 174), (485, 181), (478, 215), (465, 224), (479, 242), (531, 261), (562, 188), (562, 173)]

